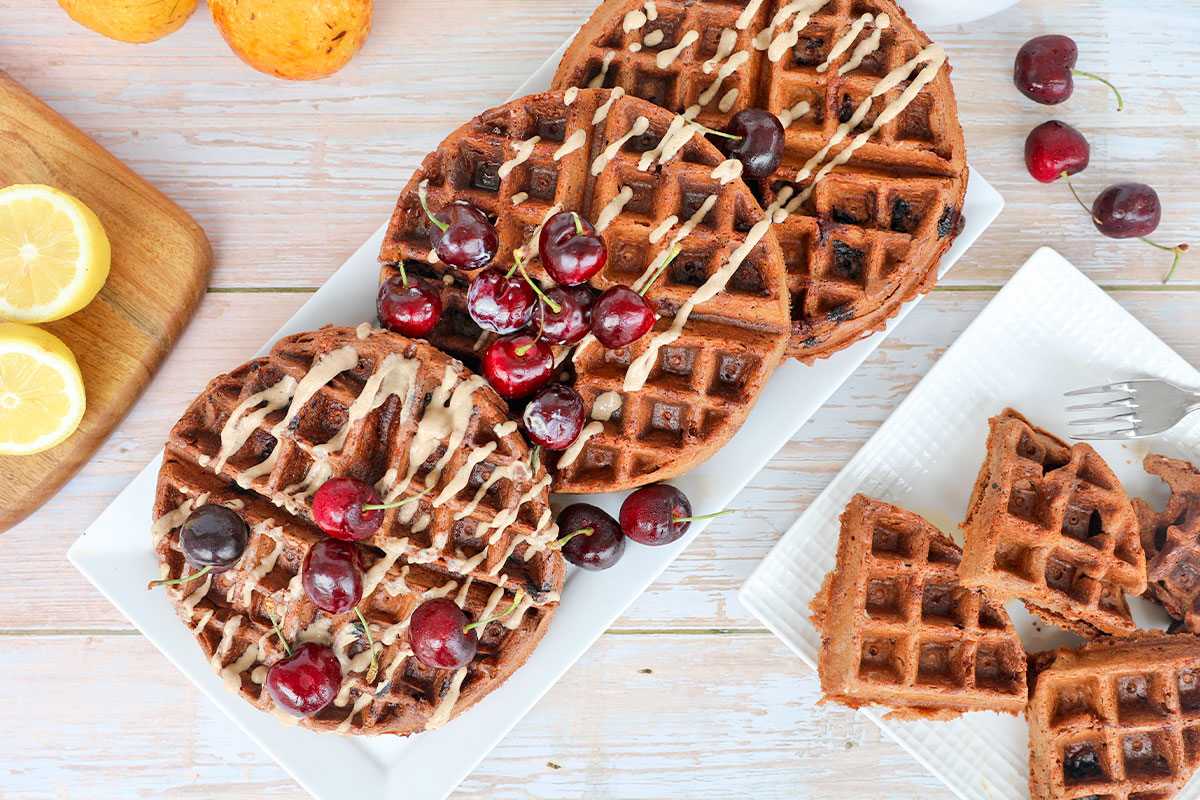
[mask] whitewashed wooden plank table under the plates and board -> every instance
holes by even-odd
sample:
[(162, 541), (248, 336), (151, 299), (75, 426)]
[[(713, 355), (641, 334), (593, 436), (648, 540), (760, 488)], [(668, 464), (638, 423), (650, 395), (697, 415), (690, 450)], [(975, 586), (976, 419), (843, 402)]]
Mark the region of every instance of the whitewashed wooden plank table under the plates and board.
[[(0, 796), (305, 796), (76, 573), (66, 548), (209, 378), (246, 360), (390, 213), (422, 155), (503, 101), (592, 6), (377, 0), (347, 70), (289, 84), (244, 66), (203, 8), (133, 47), (49, 0), (0, 0), (0, 68), (194, 215), (217, 259), (196, 320), (128, 419), (0, 536)], [(1016, 48), (1050, 31), (1074, 36), (1080, 67), (1124, 89), (1126, 112), (1098, 85), (1056, 109), (1018, 95)], [(1004, 194), (1004, 213), (742, 493), (745, 511), (713, 524), (456, 796), (950, 796), (869, 721), (817, 708), (815, 675), (736, 591), (1039, 245), (1200, 362), (1200, 252), (1160, 285), (1165, 253), (1100, 237), (1066, 187), (1034, 184), (1021, 161), (1031, 127), (1067, 120), (1092, 142), (1085, 194), (1150, 182), (1165, 206), (1157, 237), (1200, 245), (1200, 6), (1025, 0), (935, 37), (954, 65), (972, 166)]]

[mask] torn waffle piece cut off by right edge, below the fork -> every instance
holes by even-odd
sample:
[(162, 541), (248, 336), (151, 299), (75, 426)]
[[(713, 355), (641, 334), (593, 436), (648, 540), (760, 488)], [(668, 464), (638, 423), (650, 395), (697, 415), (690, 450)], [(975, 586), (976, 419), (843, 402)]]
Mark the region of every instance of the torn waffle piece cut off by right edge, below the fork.
[(1200, 633), (1200, 470), (1186, 461), (1150, 455), (1146, 471), (1171, 488), (1163, 511), (1134, 498), (1150, 587), (1146, 596), (1193, 633)]

